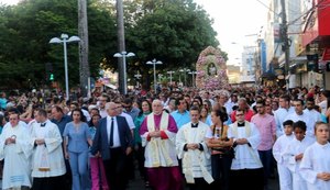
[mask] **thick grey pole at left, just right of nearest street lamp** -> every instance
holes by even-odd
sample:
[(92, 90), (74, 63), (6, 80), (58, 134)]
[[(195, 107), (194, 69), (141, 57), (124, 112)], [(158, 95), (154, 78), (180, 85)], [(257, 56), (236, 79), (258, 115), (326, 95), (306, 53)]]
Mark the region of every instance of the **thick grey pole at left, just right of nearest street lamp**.
[(81, 94), (87, 97), (89, 89), (89, 63), (88, 63), (88, 22), (86, 0), (78, 0), (78, 31), (79, 31), (79, 76)]

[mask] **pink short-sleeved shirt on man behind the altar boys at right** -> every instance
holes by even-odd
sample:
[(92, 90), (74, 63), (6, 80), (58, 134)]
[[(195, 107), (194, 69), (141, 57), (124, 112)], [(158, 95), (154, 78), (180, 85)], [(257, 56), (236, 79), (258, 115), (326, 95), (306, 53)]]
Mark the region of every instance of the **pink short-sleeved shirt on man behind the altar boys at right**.
[(252, 116), (251, 122), (258, 128), (261, 136), (261, 144), (257, 146), (257, 150), (272, 149), (274, 144), (273, 136), (276, 135), (275, 118), (268, 113), (264, 115), (257, 113)]

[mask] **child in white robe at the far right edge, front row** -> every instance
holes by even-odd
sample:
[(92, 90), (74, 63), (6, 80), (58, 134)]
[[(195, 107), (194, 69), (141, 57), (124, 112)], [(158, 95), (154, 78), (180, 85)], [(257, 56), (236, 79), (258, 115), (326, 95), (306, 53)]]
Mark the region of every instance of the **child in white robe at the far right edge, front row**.
[(326, 190), (330, 189), (329, 124), (318, 122), (315, 134), (317, 142), (305, 150), (299, 170), (308, 190)]

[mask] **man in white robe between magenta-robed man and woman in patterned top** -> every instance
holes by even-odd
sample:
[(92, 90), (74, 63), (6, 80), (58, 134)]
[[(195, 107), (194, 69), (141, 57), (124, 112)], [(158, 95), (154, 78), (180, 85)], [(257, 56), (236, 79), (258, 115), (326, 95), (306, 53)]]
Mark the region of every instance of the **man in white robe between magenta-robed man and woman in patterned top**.
[(191, 190), (206, 190), (213, 181), (210, 153), (206, 144), (209, 126), (199, 121), (197, 107), (190, 108), (191, 121), (183, 125), (176, 135), (176, 150), (183, 160), (183, 172)]

